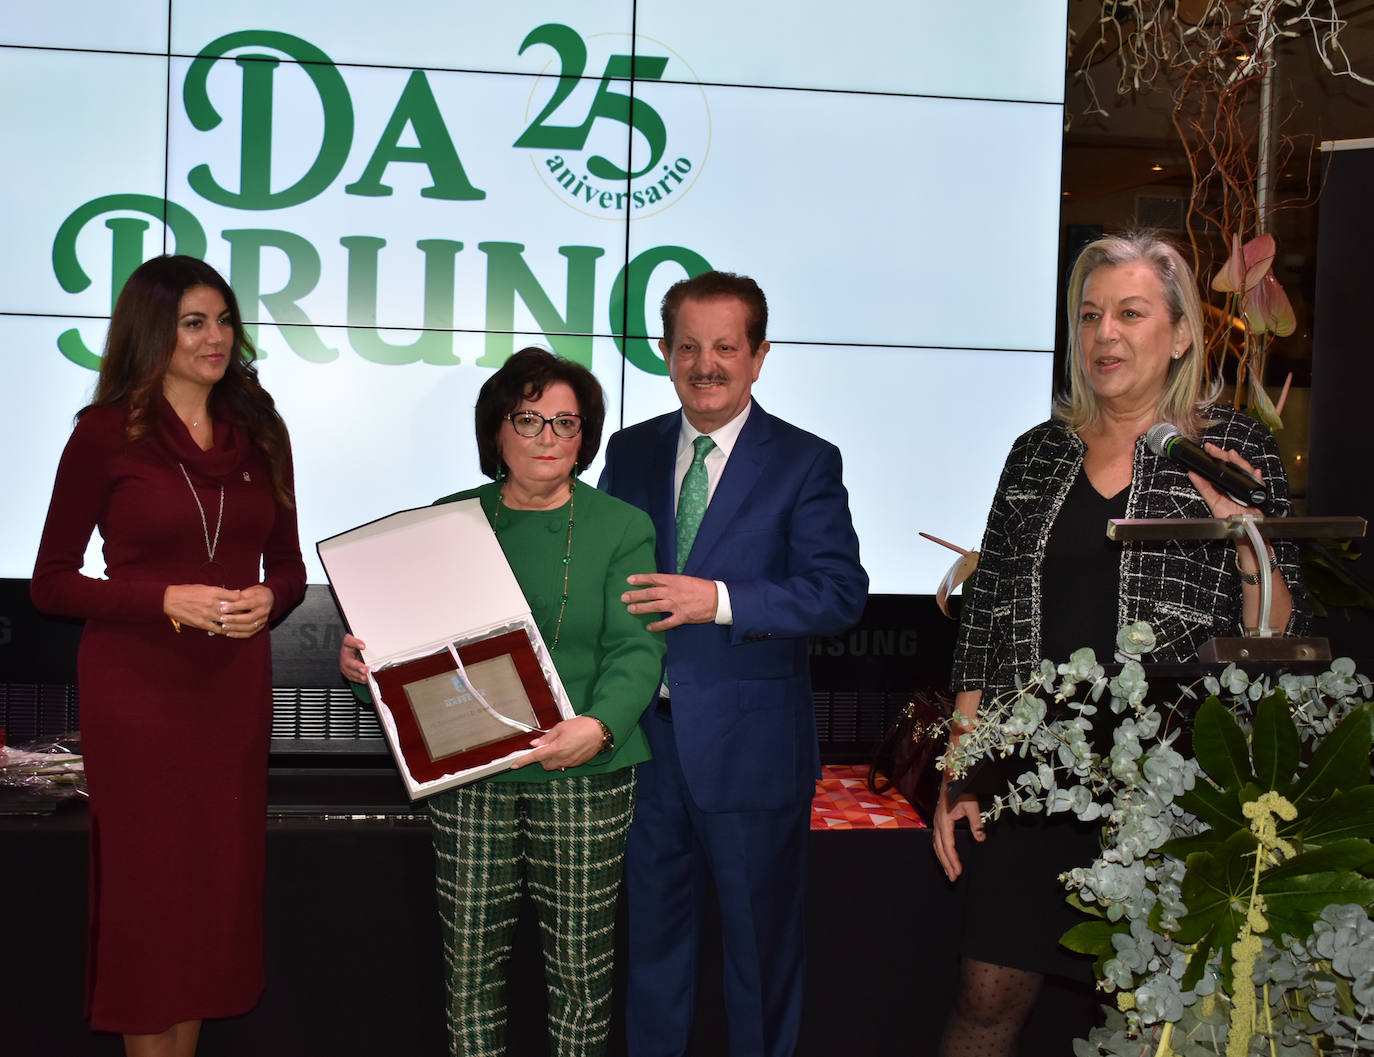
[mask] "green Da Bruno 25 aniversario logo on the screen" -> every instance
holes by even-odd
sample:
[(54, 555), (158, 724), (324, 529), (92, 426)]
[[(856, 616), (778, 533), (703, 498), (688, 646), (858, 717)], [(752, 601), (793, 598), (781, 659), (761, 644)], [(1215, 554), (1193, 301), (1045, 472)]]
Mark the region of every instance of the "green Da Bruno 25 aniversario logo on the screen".
[[(595, 43), (606, 44), (607, 49), (607, 41), (616, 38), (613, 34), (592, 37)], [(554, 23), (532, 30), (519, 52), (534, 45), (554, 48), (559, 71), (547, 104), (533, 120), (526, 114), (528, 125), (513, 146), (533, 153), (534, 168), (543, 183), (567, 205), (584, 213), (620, 220), (627, 216), (651, 216), (679, 201), (699, 175), (709, 148), (709, 113), (695, 78), (688, 82), (695, 98), (691, 106), (684, 107), (680, 102), (676, 104), (672, 114), (675, 132), (669, 135), (669, 125), (658, 109), (628, 93), (631, 76), (636, 78), (636, 91), (644, 82), (665, 88), (666, 85), (660, 85), (665, 71), (675, 71), (669, 67), (669, 58), (609, 54), (605, 73), (580, 124), (558, 124), (558, 120), (567, 120), (566, 115), (578, 106), (581, 96), (576, 89), (587, 67), (587, 45), (574, 30)], [(394, 188), (385, 180), (394, 165), (423, 166), (429, 172), (430, 186), (420, 188), (419, 197), (433, 199), (436, 206), (488, 198), (482, 186), (481, 155), (470, 154), (469, 162), (477, 158), (478, 164), (464, 166), (425, 70), (409, 73), (376, 146), (356, 177), (345, 177), (339, 186), (354, 146), (349, 84), (328, 55), (289, 33), (239, 30), (206, 45), (187, 67), (183, 84), (183, 106), (191, 129), (212, 132), (223, 124), (221, 107), (210, 98), (212, 84), (223, 84), (223, 73), (217, 74), (218, 80), (212, 81), (212, 71), (217, 66), (223, 67), (229, 52), (242, 49), (251, 51), (232, 56), (240, 84), (238, 107), (223, 107), (227, 113), (236, 111), (242, 122), (236, 140), (238, 186), (225, 179), (223, 170), (216, 172), (210, 162), (199, 162), (185, 176), (187, 187), (199, 198), (221, 209), (243, 212), (253, 220), (269, 212), (282, 216), (282, 210), (289, 217), (293, 209), (331, 191), (361, 198), (393, 195)], [(264, 54), (264, 49), (276, 54)], [(284, 80), (284, 70), (290, 70), (290, 82)], [(690, 77), (686, 63), (682, 63), (677, 77)], [(272, 118), (275, 104), (280, 103), (276, 96), (283, 95), (283, 87), (290, 84), (291, 91), (297, 91), (304, 84), (302, 78), (309, 81), (317, 98), (316, 113), (323, 115), (323, 121), (313, 158), (308, 158), (301, 166), (304, 170), (291, 173), (287, 172), (290, 165), (273, 158), (273, 147), (297, 133), (291, 128), (278, 128), (279, 122)], [(536, 82), (532, 100), (541, 84), (548, 84), (543, 76)], [(675, 87), (679, 92), (688, 91), (687, 85)], [(584, 88), (589, 88), (589, 84)], [(679, 125), (686, 131), (679, 132)], [(632, 132), (631, 150), (628, 162), (622, 165), (616, 158), (625, 159), (627, 128)], [(185, 135), (195, 142), (194, 132)], [(220, 135), (223, 137), (223, 132)], [(404, 143), (407, 137), (409, 143)], [(301, 157), (298, 151), (283, 154), (293, 159)], [(305, 154), (309, 155), (309, 150)], [(273, 179), (278, 186), (273, 186)], [(330, 216), (335, 223), (348, 223), (350, 212), (345, 203), (339, 205), (337, 213)], [(442, 220), (451, 223), (452, 208), (447, 206), (449, 212), (442, 214)], [(201, 220), (181, 203), (147, 194), (100, 195), (77, 206), (54, 236), (54, 274), (69, 293), (80, 293), (91, 286), (92, 279), (78, 257), (78, 245), (88, 245), (89, 236), (82, 239), (82, 232), (98, 224), (109, 231), (111, 308), (129, 274), (164, 246), (168, 252), (196, 257), (206, 256), (209, 249)], [(338, 359), (339, 351), (326, 344), (319, 324), (302, 307), (302, 301), (320, 289), (324, 275), (316, 245), (295, 231), (261, 223), (227, 227), (218, 234), (228, 245), (228, 278), (245, 316), (278, 324), (282, 338), (304, 360), (328, 363)], [(386, 335), (378, 327), (378, 272), (386, 239), (342, 231), (335, 238), (348, 260), (346, 293), (342, 298), (346, 301), (348, 324), (344, 331), (353, 352), (361, 359), (383, 364), (456, 366), (455, 287), (463, 243), (449, 238), (422, 238), (414, 243), (423, 254), (423, 320), (416, 329), (416, 337), (397, 344), (393, 340), (394, 324)], [(605, 256), (603, 247), (556, 247), (566, 261), (562, 308), (554, 304), (554, 298), (526, 263), (523, 243), (488, 239), (478, 242), (475, 249), (485, 263), (486, 334), (484, 353), (475, 360), (480, 367), (499, 367), (514, 352), (518, 297), (558, 355), (589, 366), (589, 334), (599, 330), (616, 337), (617, 346), (632, 364), (651, 374), (664, 374), (662, 360), (644, 337), (650, 333), (651, 315), (644, 304), (649, 280), (654, 269), (664, 264), (680, 268), (687, 275), (710, 268), (702, 254), (684, 246), (644, 249), (611, 282), (606, 315), (602, 318), (605, 323), (598, 327), (596, 261)], [(264, 267), (268, 257), (272, 258), (272, 268)], [(283, 258), (286, 280), (276, 289), (264, 290), (264, 274), (279, 275)], [(249, 327), (254, 338), (258, 326)], [(625, 334), (636, 337), (627, 338)], [(99, 368), (99, 355), (87, 348), (76, 329), (58, 338), (58, 348), (73, 363)]]

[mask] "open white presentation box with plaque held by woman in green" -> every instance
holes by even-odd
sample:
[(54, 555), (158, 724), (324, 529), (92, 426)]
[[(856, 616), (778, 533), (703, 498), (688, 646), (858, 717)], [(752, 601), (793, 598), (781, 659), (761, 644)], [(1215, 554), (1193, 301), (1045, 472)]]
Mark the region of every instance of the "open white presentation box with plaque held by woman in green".
[(511, 767), (532, 731), (573, 716), (477, 499), (403, 510), (316, 550), (367, 643), (368, 687), (411, 800)]

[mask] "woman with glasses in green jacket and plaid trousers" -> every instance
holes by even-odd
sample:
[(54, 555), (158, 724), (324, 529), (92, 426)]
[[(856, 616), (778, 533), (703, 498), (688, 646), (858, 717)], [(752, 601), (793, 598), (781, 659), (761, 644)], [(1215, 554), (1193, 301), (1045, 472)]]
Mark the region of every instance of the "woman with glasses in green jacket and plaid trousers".
[[(430, 797), (448, 968), (449, 1052), (506, 1053), (506, 975), (521, 889), (539, 917), (550, 1049), (605, 1052), (616, 900), (649, 759), (639, 716), (662, 675), (662, 635), (631, 614), (625, 577), (654, 565), (649, 517), (577, 480), (596, 456), (600, 383), (543, 349), (515, 353), (477, 397), (480, 499), (577, 713), (532, 739), (518, 770)], [(364, 643), (339, 667), (360, 683)]]

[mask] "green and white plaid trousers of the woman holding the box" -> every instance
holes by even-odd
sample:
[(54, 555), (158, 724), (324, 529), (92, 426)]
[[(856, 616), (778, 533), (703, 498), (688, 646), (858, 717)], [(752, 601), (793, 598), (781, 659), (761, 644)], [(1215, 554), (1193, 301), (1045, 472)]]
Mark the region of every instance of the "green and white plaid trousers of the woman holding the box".
[(550, 1052), (603, 1054), (635, 768), (477, 782), (437, 793), (429, 807), (452, 1057), (506, 1054), (506, 976), (522, 884), (544, 948)]

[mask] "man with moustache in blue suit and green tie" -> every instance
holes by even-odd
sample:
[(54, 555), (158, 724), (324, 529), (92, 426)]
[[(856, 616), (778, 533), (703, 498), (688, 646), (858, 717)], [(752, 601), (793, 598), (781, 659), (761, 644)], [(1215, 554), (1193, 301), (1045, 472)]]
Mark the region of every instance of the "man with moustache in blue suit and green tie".
[(662, 318), (682, 411), (613, 436), (600, 478), (654, 521), (658, 572), (631, 576), (622, 601), (668, 632), (625, 862), (629, 1054), (687, 1049), (713, 885), (731, 1054), (791, 1057), (820, 772), (809, 638), (859, 619), (868, 577), (840, 451), (752, 400), (768, 355), (758, 285), (698, 275)]

